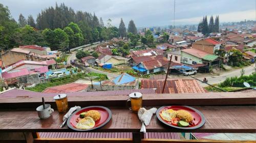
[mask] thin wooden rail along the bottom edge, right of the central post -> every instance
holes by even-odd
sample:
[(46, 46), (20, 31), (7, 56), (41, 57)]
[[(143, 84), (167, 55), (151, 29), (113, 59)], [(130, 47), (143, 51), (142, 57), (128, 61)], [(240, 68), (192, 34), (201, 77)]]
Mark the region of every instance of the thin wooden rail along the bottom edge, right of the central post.
[(252, 143), (256, 142), (255, 140), (211, 140), (211, 139), (158, 139), (158, 138), (145, 138), (142, 139), (142, 143), (198, 143), (198, 142), (207, 142), (207, 143)]

